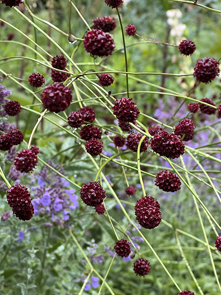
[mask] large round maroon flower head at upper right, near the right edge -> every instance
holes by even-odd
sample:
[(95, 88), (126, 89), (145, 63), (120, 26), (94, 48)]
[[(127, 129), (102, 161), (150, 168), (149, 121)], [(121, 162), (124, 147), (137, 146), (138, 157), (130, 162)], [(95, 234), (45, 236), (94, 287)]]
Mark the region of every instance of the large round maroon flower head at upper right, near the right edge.
[(214, 58), (204, 58), (197, 61), (193, 76), (197, 82), (209, 83), (219, 76), (219, 62)]

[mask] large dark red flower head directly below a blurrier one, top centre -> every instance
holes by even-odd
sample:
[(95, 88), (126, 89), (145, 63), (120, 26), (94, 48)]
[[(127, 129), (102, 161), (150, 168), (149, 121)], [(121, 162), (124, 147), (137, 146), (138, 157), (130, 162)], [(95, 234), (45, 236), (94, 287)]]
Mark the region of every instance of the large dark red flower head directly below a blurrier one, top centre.
[(83, 46), (92, 57), (100, 58), (112, 54), (115, 45), (111, 35), (100, 29), (92, 29), (84, 35)]

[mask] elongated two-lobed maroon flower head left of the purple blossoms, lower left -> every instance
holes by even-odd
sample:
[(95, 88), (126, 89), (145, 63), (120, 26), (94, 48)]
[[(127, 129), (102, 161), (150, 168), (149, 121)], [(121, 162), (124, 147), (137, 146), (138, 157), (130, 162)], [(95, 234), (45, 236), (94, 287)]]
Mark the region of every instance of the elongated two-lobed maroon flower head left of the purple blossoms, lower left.
[(8, 205), (16, 217), (21, 220), (29, 220), (34, 214), (34, 207), (31, 203), (31, 197), (28, 188), (16, 184), (7, 190)]

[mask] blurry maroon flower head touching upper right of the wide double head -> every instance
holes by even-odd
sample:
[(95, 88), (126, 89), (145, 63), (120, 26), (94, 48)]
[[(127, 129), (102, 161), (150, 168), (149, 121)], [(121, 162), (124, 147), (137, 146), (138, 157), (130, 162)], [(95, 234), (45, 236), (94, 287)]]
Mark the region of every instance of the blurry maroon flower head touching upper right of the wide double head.
[(195, 125), (193, 121), (189, 118), (183, 118), (175, 126), (174, 134), (177, 136), (180, 136), (181, 138), (185, 134), (183, 141), (189, 141), (193, 139), (194, 137), (194, 133), (193, 133), (194, 129), (195, 129)]

